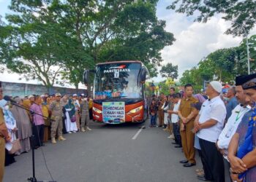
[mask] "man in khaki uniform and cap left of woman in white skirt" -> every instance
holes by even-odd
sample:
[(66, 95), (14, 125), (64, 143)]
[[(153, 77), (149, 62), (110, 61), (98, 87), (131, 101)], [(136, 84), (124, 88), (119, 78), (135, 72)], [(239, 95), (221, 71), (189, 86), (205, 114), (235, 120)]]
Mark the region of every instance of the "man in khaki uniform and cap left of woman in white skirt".
[(55, 120), (51, 122), (51, 129), (50, 129), (50, 137), (51, 137), (51, 142), (56, 143), (56, 131), (58, 130), (58, 140), (59, 141), (66, 141), (65, 138), (62, 137), (62, 108), (63, 106), (61, 105), (61, 94), (56, 93), (56, 100), (53, 101), (53, 103), (50, 104), (50, 111), (51, 111), (51, 119)]

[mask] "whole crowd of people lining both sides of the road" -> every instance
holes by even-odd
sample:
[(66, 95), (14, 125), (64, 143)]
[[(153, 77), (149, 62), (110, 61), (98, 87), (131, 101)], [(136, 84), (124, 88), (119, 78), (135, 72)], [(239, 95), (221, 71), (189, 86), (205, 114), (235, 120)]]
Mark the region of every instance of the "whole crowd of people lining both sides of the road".
[[(196, 165), (196, 151), (203, 169), (201, 181), (256, 181), (256, 74), (237, 76), (236, 86), (222, 93), (222, 84), (212, 81), (205, 93), (194, 95), (192, 84), (184, 92), (170, 88), (170, 94), (152, 95), (150, 127), (170, 132), (176, 148), (182, 148), (184, 167)], [(0, 181), (4, 163), (15, 162), (15, 155), (29, 152), (31, 135), (35, 149), (65, 141), (64, 133), (86, 132), (92, 117), (92, 100), (85, 95), (29, 95), (3, 99), (0, 87)], [(26, 109), (23, 109), (26, 108)], [(158, 121), (158, 125), (157, 125)], [(20, 149), (10, 153), (20, 141)]]

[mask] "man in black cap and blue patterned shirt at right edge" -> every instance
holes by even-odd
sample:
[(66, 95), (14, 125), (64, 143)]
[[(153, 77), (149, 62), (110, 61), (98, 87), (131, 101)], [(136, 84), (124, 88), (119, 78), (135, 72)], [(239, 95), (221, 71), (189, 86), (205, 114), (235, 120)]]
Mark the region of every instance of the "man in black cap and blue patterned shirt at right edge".
[[(252, 110), (244, 114), (238, 125), (238, 129), (230, 141), (227, 157), (230, 161), (230, 173), (232, 173), (233, 181), (256, 181), (256, 74), (243, 76), (242, 82), (244, 93), (252, 100), (253, 106)], [(249, 128), (252, 130), (248, 130)], [(249, 146), (252, 145), (252, 150), (245, 152), (244, 157), (237, 157), (241, 148), (248, 142), (245, 137), (249, 139)], [(238, 179), (239, 173), (245, 173), (243, 179)]]

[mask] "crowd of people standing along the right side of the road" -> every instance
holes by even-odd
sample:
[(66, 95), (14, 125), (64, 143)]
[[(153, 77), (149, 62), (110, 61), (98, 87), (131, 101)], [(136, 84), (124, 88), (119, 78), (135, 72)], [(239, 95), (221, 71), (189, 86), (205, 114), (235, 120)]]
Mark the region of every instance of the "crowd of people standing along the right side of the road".
[[(222, 93), (222, 84), (212, 81), (204, 93), (194, 95), (192, 84), (184, 92), (152, 95), (150, 127), (164, 127), (176, 148), (182, 148), (184, 167), (203, 169), (200, 181), (256, 181), (256, 74), (237, 76), (236, 86)], [(159, 124), (157, 125), (157, 121)]]

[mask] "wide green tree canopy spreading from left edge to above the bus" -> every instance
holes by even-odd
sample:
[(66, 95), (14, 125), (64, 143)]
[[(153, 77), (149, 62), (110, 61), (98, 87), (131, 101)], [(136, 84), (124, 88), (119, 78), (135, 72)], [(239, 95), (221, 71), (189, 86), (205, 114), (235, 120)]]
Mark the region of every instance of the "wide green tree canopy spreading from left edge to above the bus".
[(157, 76), (160, 50), (174, 38), (165, 21), (157, 20), (156, 5), (154, 0), (12, 0), (14, 13), (1, 24), (2, 63), (47, 87), (61, 77), (77, 87), (85, 69), (109, 60), (142, 60)]

